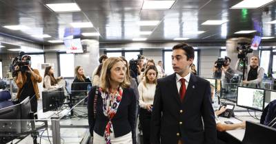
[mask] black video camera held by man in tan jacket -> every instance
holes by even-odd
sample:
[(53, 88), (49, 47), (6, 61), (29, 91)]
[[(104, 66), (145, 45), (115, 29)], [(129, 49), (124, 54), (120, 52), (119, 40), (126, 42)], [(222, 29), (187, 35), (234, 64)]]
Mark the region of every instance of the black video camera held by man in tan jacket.
[(28, 65), (31, 64), (30, 56), (26, 56), (27, 60), (22, 61), (22, 57), (25, 57), (24, 55), (25, 53), (23, 51), (20, 51), (19, 56), (12, 59), (12, 63), (10, 64), (12, 77), (15, 77), (17, 75), (17, 71), (15, 71), (16, 66), (19, 66), (19, 71), (21, 72), (25, 72), (28, 70)]

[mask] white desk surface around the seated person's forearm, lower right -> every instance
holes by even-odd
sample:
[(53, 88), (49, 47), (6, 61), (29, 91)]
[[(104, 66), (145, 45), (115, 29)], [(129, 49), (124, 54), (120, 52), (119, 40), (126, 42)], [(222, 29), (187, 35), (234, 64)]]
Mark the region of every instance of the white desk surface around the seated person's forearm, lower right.
[[(219, 121), (221, 123), (224, 123), (224, 121), (231, 121), (232, 123), (240, 123), (239, 119), (236, 119), (235, 117), (230, 117), (230, 119), (225, 118), (225, 117), (219, 117)], [(235, 139), (238, 139), (239, 141), (242, 141), (244, 139), (244, 134), (246, 130), (239, 128), (237, 130), (227, 130), (226, 133), (230, 134), (231, 136), (235, 137)]]

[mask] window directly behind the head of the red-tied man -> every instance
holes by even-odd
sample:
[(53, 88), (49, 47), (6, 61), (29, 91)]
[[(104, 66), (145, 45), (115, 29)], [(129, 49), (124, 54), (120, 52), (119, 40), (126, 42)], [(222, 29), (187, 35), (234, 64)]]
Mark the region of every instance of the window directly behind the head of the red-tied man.
[[(195, 58), (193, 64), (195, 64), (195, 68), (197, 69), (197, 73), (199, 73), (199, 68), (198, 66), (198, 51), (195, 51)], [(172, 69), (172, 51), (164, 51), (164, 70), (167, 75), (170, 75), (174, 73)]]

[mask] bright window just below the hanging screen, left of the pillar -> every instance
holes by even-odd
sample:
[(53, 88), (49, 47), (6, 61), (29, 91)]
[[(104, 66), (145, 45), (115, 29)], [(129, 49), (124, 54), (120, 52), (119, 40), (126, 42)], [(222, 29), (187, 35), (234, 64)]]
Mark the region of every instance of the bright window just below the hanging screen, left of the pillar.
[(75, 60), (73, 53), (60, 53), (59, 54), (59, 70), (60, 75), (63, 77), (75, 76)]

